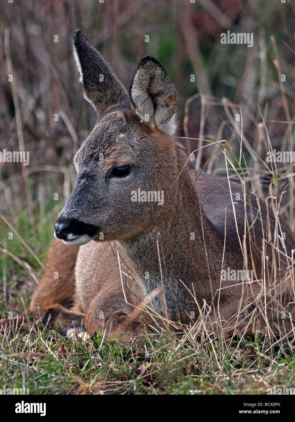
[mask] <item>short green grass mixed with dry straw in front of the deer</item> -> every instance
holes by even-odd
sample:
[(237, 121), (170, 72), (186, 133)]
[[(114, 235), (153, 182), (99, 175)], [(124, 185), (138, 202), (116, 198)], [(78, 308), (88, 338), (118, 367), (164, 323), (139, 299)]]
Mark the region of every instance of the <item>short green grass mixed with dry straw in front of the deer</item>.
[(239, 347), (250, 351), (249, 356), (232, 357), (234, 342), (224, 350), (219, 339), (214, 360), (208, 346), (197, 341), (180, 346), (174, 335), (142, 339), (128, 348), (105, 340), (99, 352), (100, 335), (72, 341), (36, 322), (5, 331), (1, 385), (25, 385), (30, 394), (247, 395), (266, 394), (274, 385), (294, 386), (293, 352), (287, 342), (276, 357), (261, 355), (254, 341), (242, 342)]

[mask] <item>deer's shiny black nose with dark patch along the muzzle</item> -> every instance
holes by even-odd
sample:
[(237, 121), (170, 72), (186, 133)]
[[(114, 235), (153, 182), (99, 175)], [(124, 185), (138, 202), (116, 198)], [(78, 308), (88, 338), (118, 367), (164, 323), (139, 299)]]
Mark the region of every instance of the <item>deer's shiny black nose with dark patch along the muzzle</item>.
[(68, 235), (70, 234), (73, 236), (89, 235), (93, 237), (99, 230), (97, 226), (83, 223), (75, 218), (65, 218), (64, 216), (59, 216), (54, 228), (56, 237), (64, 240), (68, 240)]

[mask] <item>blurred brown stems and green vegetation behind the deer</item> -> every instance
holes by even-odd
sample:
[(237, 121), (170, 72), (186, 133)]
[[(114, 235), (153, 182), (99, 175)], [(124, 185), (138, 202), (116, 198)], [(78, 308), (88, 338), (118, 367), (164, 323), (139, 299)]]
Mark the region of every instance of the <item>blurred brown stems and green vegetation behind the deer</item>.
[[(235, 116), (242, 112), (242, 166), (247, 164), (247, 176), (257, 175), (260, 194), (272, 174), (252, 150), (266, 162), (268, 136), (273, 148), (295, 150), (292, 2), (13, 0), (3, 2), (1, 9), (0, 151), (30, 152), (27, 167), (0, 163), (5, 303), (20, 279), (24, 285), (24, 274), (30, 285), (41, 271), (28, 248), (43, 260), (54, 220), (75, 184), (73, 156), (96, 120), (78, 83), (72, 57), (75, 29), (85, 33), (127, 88), (142, 56), (153, 54), (162, 62), (179, 94), (180, 137), (229, 139), (239, 154), (241, 122)], [(253, 47), (221, 44), (220, 34), (228, 30), (253, 33)], [(205, 145), (180, 141), (188, 155)], [(196, 166), (204, 165), (213, 148), (196, 153)], [(205, 171), (221, 174), (224, 167), (220, 151)], [(290, 163), (278, 165), (279, 176), (287, 170), (282, 189), (289, 184), (289, 190), (281, 211), (294, 228), (294, 169)], [(8, 233), (17, 242), (10, 242)]]

